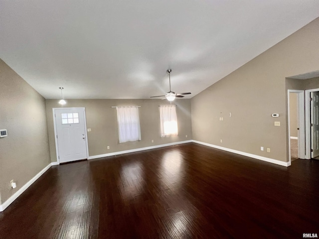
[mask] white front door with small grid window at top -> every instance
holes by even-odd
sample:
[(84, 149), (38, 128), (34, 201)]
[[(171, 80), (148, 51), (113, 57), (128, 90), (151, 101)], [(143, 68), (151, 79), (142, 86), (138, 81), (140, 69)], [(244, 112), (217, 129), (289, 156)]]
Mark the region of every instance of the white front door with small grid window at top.
[(87, 158), (84, 108), (55, 110), (56, 140), (60, 163)]

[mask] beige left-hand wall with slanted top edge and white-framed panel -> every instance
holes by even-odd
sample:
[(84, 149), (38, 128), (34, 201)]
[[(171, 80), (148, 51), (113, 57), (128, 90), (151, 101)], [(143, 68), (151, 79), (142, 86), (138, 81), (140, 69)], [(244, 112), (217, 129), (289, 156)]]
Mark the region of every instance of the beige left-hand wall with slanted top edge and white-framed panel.
[[(2, 203), (50, 163), (45, 100), (0, 60), (0, 194)], [(10, 180), (17, 187), (10, 187)]]

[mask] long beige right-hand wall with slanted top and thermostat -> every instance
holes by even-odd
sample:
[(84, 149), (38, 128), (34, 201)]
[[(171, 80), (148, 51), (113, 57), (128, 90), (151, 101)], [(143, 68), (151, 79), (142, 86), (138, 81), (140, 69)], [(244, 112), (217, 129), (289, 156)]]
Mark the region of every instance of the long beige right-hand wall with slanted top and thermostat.
[(193, 97), (193, 139), (289, 161), (286, 77), (319, 70), (318, 26), (319, 18)]

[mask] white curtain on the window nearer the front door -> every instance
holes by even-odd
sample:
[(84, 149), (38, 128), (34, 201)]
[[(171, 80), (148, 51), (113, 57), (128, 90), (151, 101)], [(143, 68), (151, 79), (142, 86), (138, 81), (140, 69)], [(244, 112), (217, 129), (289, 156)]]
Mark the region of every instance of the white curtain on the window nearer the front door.
[(120, 143), (141, 140), (141, 127), (138, 107), (118, 107)]

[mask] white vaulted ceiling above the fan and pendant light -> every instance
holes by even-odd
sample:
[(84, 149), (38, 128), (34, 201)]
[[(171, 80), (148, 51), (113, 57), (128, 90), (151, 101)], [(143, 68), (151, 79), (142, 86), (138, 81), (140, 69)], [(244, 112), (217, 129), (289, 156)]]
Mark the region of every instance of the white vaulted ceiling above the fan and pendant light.
[(190, 98), (319, 16), (318, 0), (0, 0), (0, 58), (46, 99)]

